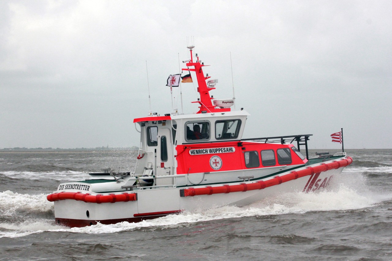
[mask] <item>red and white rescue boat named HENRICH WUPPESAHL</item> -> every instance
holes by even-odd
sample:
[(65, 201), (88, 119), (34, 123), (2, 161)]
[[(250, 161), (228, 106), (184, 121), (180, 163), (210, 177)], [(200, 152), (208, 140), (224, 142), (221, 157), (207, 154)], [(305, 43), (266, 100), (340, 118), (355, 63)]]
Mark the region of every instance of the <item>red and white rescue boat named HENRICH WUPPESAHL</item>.
[[(311, 134), (242, 138), (248, 112), (233, 99), (214, 99), (198, 55), (184, 61), (196, 75), (198, 111), (134, 119), (140, 149), (134, 172), (107, 168), (90, 179), (62, 183), (47, 196), (58, 224), (84, 227), (138, 222), (181, 211), (244, 206), (285, 192), (314, 192), (352, 163), (345, 152), (309, 158)], [(189, 76), (191, 77), (191, 76)], [(178, 75), (170, 76), (169, 86)], [(303, 154), (303, 152), (305, 152)]]

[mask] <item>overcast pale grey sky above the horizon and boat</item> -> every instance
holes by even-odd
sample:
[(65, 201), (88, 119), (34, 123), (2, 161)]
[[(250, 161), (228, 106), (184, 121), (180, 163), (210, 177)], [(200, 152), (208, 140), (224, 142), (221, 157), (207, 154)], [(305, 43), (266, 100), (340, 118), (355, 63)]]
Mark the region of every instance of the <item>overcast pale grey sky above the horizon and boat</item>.
[[(231, 52), (244, 138), (338, 149), (343, 128), (345, 148), (391, 148), (391, 13), (388, 0), (0, 1), (0, 148), (138, 145), (146, 61), (152, 111), (169, 113), (187, 36), (215, 98), (232, 98)], [(183, 84), (186, 113), (194, 100)]]

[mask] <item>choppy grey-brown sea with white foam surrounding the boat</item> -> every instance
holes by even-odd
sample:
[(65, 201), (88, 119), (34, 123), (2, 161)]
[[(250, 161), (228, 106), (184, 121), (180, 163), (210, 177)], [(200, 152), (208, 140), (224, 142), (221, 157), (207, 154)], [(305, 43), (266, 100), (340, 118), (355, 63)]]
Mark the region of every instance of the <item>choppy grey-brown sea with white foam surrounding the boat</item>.
[(353, 163), (318, 193), (139, 223), (54, 223), (46, 195), (58, 184), (132, 171), (136, 154), (0, 152), (0, 260), (392, 260), (392, 150), (347, 150)]

